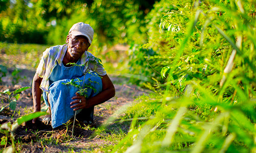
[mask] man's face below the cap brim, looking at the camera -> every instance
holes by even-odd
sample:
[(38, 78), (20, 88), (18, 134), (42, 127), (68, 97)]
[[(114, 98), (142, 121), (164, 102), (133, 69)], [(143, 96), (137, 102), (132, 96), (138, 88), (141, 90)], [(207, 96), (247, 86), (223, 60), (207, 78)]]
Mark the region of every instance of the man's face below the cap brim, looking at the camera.
[(78, 60), (84, 52), (89, 48), (89, 42), (84, 36), (67, 36), (68, 54), (74, 59)]

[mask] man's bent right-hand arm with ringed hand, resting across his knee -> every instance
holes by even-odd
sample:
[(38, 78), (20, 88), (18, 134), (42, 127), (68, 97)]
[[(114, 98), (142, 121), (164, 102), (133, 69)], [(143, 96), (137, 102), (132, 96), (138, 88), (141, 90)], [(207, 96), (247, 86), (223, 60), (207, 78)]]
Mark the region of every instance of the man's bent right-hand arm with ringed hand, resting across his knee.
[[(96, 96), (91, 97), (89, 99), (86, 99), (84, 96), (80, 96), (79, 94), (77, 94), (72, 98), (76, 100), (70, 103), (72, 105), (71, 108), (74, 108), (75, 111), (79, 109), (90, 108), (90, 107), (99, 105), (101, 103), (104, 103), (106, 100), (109, 100), (110, 98), (115, 96), (115, 87), (112, 81), (110, 80), (109, 76), (106, 74), (101, 77), (102, 77), (101, 78), (102, 91)], [(79, 103), (80, 99), (82, 103)], [(73, 104), (76, 104), (76, 105), (73, 105)]]

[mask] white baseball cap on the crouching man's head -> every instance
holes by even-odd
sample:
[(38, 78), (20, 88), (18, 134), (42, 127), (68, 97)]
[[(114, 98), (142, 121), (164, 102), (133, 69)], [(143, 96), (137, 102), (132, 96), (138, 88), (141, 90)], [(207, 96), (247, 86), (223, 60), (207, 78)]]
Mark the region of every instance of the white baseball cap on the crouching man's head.
[(94, 31), (89, 24), (78, 22), (71, 27), (69, 34), (72, 36), (85, 36), (89, 43), (92, 44)]

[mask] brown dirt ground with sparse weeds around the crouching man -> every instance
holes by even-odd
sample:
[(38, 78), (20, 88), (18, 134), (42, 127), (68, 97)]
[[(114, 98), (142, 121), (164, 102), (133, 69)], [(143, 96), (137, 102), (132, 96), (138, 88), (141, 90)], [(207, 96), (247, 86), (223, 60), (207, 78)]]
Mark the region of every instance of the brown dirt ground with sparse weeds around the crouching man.
[[(10, 70), (11, 71), (11, 70)], [(33, 79), (34, 71), (22, 70), (19, 72), (20, 79), (17, 85), (12, 85), (10, 76), (2, 78), (2, 84), (0, 85), (0, 92), (6, 89), (13, 91), (20, 87), (30, 86)], [(98, 105), (94, 110), (94, 122), (92, 126), (99, 127), (102, 123), (108, 119), (116, 110), (123, 105), (129, 105), (134, 103), (134, 99), (139, 95), (146, 93), (142, 89), (127, 85), (127, 79), (110, 76), (116, 89), (116, 96), (106, 101), (105, 103)], [(6, 101), (2, 101), (0, 106), (7, 105)], [(41, 107), (44, 108), (45, 104), (41, 103)], [(31, 89), (27, 89), (20, 94), (20, 98), (17, 101), (16, 112), (10, 112), (8, 109), (0, 112), (0, 124), (5, 122), (13, 122), (17, 117), (29, 114), (33, 111), (33, 101), (31, 95)], [(14, 114), (14, 115), (13, 115)], [(27, 122), (27, 125), (20, 125), (15, 132), (15, 140), (19, 141), (21, 145), (17, 145), (20, 152), (69, 152), (74, 150), (80, 152), (84, 150), (94, 150), (106, 146), (114, 145), (106, 139), (102, 139), (100, 135), (94, 135), (94, 129), (88, 128), (89, 126), (83, 125), (75, 121), (74, 134), (72, 135), (73, 119), (68, 123), (69, 125), (63, 125), (58, 129), (52, 129), (51, 125), (46, 125), (41, 122), (40, 117), (36, 124)], [(82, 128), (83, 127), (83, 128)], [(129, 130), (129, 124), (112, 123), (110, 131), (127, 132)], [(106, 132), (104, 135), (111, 135), (111, 132)], [(5, 136), (0, 134), (0, 137)], [(41, 140), (41, 141), (40, 141)], [(4, 148), (5, 145), (0, 145)]]

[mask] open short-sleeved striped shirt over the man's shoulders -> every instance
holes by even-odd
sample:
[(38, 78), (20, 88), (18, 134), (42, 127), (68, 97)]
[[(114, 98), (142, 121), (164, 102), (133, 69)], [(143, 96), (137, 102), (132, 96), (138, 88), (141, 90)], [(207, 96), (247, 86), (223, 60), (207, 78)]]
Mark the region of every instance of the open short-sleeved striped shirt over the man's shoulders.
[[(40, 78), (42, 78), (42, 82), (40, 84), (40, 88), (42, 90), (49, 92), (50, 75), (57, 64), (61, 66), (61, 62), (67, 52), (67, 47), (68, 44), (52, 46), (42, 53), (42, 58), (36, 69), (36, 73)], [(95, 60), (95, 56), (87, 51), (81, 56), (81, 64), (84, 64), (84, 73), (94, 71), (101, 76), (106, 74), (103, 66)]]

